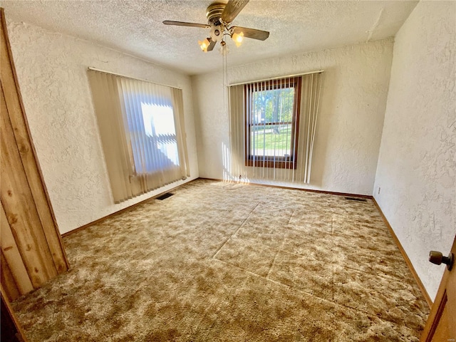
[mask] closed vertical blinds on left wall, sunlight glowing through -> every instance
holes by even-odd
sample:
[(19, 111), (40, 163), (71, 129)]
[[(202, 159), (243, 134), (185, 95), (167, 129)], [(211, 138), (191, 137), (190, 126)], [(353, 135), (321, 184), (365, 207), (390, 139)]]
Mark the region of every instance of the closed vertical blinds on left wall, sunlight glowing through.
[(88, 71), (114, 202), (188, 176), (182, 90)]

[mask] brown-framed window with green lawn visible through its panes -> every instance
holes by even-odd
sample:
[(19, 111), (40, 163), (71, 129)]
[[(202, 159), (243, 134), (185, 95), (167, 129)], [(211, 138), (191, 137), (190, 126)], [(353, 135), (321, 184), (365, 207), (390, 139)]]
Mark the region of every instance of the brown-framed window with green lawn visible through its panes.
[(301, 78), (250, 83), (246, 93), (246, 165), (296, 169)]

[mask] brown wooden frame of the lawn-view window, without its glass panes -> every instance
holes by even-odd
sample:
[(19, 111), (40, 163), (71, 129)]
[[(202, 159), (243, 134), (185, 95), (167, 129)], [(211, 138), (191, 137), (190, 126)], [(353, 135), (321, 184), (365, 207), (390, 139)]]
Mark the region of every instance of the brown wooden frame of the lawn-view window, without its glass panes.
[[(274, 122), (274, 123), (251, 123), (252, 120), (252, 101), (253, 94), (257, 91), (277, 90), (281, 88), (294, 88), (293, 113), (291, 122)], [(254, 89), (255, 88), (255, 89)], [(244, 85), (244, 157), (245, 165), (250, 167), (275, 167), (281, 169), (295, 169), (297, 167), (297, 146), (299, 137), (299, 117), (301, 107), (301, 76), (293, 78), (281, 78), (277, 80), (264, 81), (259, 87), (254, 86), (254, 83)], [(290, 138), (290, 155), (274, 156), (274, 155), (254, 155), (250, 152), (252, 146), (252, 127), (257, 125), (289, 125), (291, 124)]]

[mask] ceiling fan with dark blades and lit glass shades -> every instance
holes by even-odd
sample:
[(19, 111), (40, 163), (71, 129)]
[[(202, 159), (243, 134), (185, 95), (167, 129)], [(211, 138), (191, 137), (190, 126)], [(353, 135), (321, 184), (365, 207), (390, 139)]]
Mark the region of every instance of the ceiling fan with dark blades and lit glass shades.
[(237, 46), (240, 45), (243, 38), (253, 38), (259, 41), (264, 41), (269, 37), (268, 31), (261, 31), (255, 28), (247, 28), (241, 26), (231, 26), (232, 21), (236, 18), (242, 9), (247, 5), (249, 0), (229, 0), (227, 4), (222, 2), (214, 2), (207, 6), (206, 16), (207, 24), (186, 23), (184, 21), (165, 20), (165, 25), (189, 26), (210, 28), (209, 37), (204, 41), (198, 41), (202, 51), (212, 51), (217, 41), (220, 42), (222, 48), (225, 46), (224, 37), (230, 36)]

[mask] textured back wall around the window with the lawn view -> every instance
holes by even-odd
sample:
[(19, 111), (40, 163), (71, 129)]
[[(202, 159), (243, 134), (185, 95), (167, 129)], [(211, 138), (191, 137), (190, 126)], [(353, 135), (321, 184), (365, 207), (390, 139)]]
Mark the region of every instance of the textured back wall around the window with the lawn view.
[[(371, 195), (392, 57), (393, 40), (387, 39), (259, 61), (229, 68), (227, 76), (229, 83), (238, 83), (324, 69), (306, 188)], [(222, 72), (192, 77), (202, 177), (223, 178), (226, 172), (229, 121), (223, 79)]]

